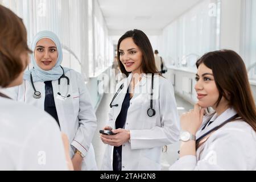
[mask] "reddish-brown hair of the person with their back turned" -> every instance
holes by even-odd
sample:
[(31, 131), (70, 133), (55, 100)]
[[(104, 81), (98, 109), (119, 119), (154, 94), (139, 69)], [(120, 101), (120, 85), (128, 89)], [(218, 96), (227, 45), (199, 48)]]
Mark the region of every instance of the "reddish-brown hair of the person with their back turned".
[(24, 70), (20, 55), (31, 51), (22, 19), (2, 5), (0, 17), (0, 86), (5, 88)]

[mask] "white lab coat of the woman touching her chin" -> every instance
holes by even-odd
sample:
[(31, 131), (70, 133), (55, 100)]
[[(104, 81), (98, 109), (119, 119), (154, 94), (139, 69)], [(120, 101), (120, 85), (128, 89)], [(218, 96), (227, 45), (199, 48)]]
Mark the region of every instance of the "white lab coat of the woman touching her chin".
[[(229, 108), (219, 117), (217, 114), (205, 116), (196, 138), (236, 114)], [(201, 130), (211, 117), (214, 122)], [(214, 131), (197, 149), (196, 156), (183, 156), (170, 170), (256, 170), (255, 152), (256, 133), (253, 128), (244, 121), (232, 121)]]

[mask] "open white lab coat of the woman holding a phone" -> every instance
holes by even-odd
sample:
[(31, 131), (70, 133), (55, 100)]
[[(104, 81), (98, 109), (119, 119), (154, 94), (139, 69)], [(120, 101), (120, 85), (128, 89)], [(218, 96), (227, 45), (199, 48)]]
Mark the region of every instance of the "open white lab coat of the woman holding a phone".
[[(120, 113), (122, 102), (132, 75), (118, 85), (124, 87), (113, 101), (107, 125), (115, 128), (115, 119)], [(142, 77), (135, 86), (134, 96), (127, 111), (125, 130), (130, 130), (130, 143), (122, 146), (122, 170), (160, 170), (162, 147), (174, 143), (179, 136), (179, 115), (177, 114), (174, 89), (171, 82), (160, 76), (154, 77), (153, 108), (156, 114), (148, 117), (150, 108), (151, 76)], [(145, 93), (145, 90), (147, 93)], [(113, 146), (107, 145), (102, 170), (113, 170)]]

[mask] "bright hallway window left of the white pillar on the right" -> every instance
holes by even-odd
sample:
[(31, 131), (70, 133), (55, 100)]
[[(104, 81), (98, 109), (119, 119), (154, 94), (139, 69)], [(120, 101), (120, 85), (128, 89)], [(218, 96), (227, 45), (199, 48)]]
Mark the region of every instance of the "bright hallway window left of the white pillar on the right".
[(167, 64), (195, 67), (205, 52), (219, 48), (220, 0), (200, 2), (163, 30), (163, 57)]

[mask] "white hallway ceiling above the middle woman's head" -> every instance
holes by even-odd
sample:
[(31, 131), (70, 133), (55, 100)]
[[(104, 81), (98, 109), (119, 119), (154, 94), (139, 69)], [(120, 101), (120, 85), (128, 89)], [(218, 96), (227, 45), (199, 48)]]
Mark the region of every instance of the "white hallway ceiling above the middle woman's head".
[(158, 35), (172, 20), (203, 0), (98, 0), (110, 35), (134, 28)]

